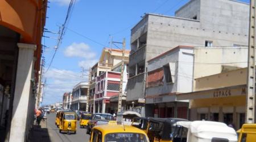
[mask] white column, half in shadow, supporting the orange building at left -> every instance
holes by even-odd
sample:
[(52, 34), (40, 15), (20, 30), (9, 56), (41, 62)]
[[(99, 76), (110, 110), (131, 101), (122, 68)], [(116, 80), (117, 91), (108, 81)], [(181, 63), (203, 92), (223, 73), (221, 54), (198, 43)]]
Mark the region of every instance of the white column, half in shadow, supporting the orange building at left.
[(18, 47), (19, 55), (16, 70), (10, 142), (25, 141), (28, 119), (28, 102), (31, 94), (32, 67), (36, 45), (18, 43)]

